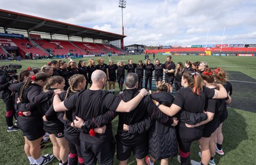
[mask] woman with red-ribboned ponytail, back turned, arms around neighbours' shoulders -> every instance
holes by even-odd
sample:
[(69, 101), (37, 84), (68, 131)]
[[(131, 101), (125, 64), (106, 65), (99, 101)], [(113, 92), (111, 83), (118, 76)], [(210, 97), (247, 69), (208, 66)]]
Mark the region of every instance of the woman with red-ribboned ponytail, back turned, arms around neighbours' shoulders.
[[(184, 87), (176, 93), (175, 100), (171, 107), (163, 106), (155, 101), (163, 113), (173, 116), (181, 109), (189, 113), (202, 113), (207, 98), (225, 98), (227, 92), (220, 86), (220, 91), (204, 88), (202, 77), (199, 74), (185, 72), (182, 75), (181, 85)], [(191, 143), (202, 138), (203, 126), (188, 128), (184, 122), (180, 122), (177, 129), (177, 137), (180, 150), (180, 161), (182, 164), (189, 164), (189, 152)]]

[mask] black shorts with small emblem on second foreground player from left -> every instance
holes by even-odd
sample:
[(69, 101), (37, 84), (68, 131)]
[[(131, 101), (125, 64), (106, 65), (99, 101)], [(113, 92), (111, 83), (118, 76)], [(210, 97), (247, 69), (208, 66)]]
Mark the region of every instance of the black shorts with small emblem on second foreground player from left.
[(63, 123), (56, 123), (53, 124), (52, 122), (44, 122), (44, 130), (48, 134), (54, 134), (56, 138), (63, 138), (64, 137), (64, 124)]

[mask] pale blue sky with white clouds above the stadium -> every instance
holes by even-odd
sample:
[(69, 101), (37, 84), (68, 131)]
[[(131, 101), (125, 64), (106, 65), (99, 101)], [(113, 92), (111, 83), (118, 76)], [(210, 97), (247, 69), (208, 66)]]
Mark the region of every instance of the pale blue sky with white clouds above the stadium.
[[(118, 0), (1, 0), (0, 8), (122, 34)], [(255, 0), (127, 0), (125, 45), (256, 43)], [(225, 26), (225, 34), (223, 29)]]

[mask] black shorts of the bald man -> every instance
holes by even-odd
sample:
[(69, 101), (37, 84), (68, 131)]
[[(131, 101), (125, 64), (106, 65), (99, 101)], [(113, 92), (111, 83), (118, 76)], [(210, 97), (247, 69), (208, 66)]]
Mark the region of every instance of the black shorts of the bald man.
[(93, 144), (89, 141), (81, 140), (81, 153), (84, 164), (114, 164), (115, 139), (104, 141), (103, 143)]

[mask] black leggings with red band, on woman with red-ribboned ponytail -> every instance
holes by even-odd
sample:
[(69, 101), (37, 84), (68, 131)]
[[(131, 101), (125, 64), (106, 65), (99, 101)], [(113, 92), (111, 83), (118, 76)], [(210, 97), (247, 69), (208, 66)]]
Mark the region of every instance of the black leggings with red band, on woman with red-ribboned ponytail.
[(195, 140), (202, 138), (204, 126), (188, 128), (185, 123), (180, 122), (177, 127), (177, 139), (180, 150), (180, 163), (190, 164), (190, 146)]

